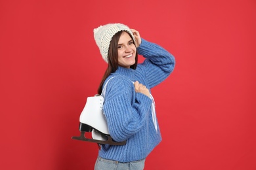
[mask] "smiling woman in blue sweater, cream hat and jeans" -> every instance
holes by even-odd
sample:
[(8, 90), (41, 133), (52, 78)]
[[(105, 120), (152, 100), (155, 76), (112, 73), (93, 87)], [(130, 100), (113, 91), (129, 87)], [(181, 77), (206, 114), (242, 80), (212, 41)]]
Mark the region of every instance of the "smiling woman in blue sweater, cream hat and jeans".
[[(127, 141), (122, 146), (102, 144), (95, 169), (144, 169), (146, 156), (161, 141), (150, 88), (170, 75), (175, 59), (127, 25), (106, 24), (94, 29), (94, 35), (108, 63), (99, 94), (112, 78), (104, 95), (108, 130), (115, 141)], [(143, 63), (137, 64), (138, 54), (145, 58)]]

